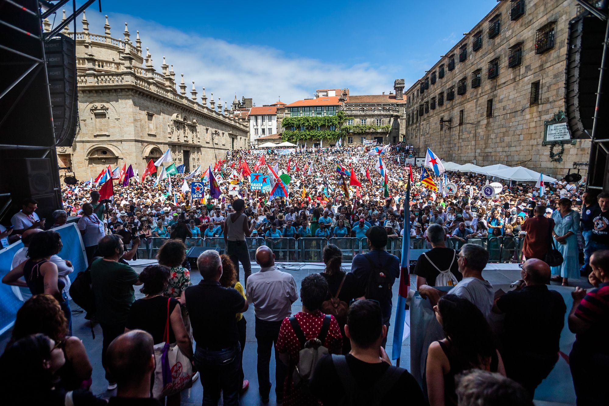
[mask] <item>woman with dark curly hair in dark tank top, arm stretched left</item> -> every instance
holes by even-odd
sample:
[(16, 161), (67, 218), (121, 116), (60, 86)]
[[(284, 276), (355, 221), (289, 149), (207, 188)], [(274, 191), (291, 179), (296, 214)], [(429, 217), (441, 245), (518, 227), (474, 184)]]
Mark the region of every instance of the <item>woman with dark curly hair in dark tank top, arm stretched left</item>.
[[(68, 334), (72, 334), (72, 310), (68, 295), (63, 292), (65, 282), (59, 279), (57, 265), (51, 262), (51, 257), (58, 254), (62, 247), (62, 237), (57, 231), (41, 231), (35, 234), (27, 248), (29, 259), (4, 275), (2, 283), (29, 287), (32, 295), (48, 293), (54, 296), (68, 320)], [(25, 280), (21, 279), (22, 276)]]

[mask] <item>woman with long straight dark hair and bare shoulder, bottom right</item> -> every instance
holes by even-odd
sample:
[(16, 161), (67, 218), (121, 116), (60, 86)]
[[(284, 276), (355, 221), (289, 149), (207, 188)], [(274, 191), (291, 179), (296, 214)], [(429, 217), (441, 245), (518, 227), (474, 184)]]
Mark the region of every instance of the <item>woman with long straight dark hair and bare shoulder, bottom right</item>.
[(429, 345), (423, 393), (430, 406), (457, 405), (457, 374), (482, 369), (505, 376), (505, 368), (491, 327), (475, 304), (457, 295), (444, 295), (434, 312), (445, 338)]

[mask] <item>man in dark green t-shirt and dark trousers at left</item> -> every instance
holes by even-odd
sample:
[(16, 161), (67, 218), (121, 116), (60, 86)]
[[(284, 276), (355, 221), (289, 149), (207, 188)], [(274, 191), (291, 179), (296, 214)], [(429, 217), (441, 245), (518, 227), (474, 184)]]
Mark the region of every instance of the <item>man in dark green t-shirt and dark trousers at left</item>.
[[(111, 234), (97, 243), (102, 258), (91, 264), (91, 284), (95, 296), (96, 318), (104, 335), (102, 365), (106, 369), (106, 350), (114, 338), (125, 332), (127, 314), (135, 301), (133, 285), (141, 285), (138, 273), (122, 260), (125, 247), (120, 236)], [(108, 390), (116, 388), (106, 372)]]

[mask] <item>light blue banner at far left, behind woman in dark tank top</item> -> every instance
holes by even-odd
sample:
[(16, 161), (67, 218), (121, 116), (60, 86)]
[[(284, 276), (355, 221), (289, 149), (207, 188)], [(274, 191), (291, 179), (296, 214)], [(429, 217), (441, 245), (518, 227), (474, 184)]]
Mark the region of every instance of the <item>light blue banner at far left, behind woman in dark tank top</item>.
[[(74, 281), (76, 274), (87, 267), (85, 247), (80, 237), (80, 231), (76, 223), (69, 223), (61, 227), (54, 228), (62, 236), (63, 248), (57, 255), (72, 261), (74, 272), (69, 276)], [(9, 247), (0, 250), (0, 275), (4, 277), (12, 268), (13, 256), (23, 247), (21, 241), (12, 243)], [(17, 298), (13, 289), (9, 285), (0, 283), (0, 334), (9, 329), (15, 322), (17, 310), (23, 302)]]

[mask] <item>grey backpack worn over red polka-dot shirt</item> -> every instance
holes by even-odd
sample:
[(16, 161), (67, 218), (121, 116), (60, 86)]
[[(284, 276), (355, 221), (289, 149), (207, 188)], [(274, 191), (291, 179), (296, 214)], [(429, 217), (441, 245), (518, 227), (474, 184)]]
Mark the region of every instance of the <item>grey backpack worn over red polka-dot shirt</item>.
[(294, 368), (294, 373), (292, 373), (294, 388), (297, 388), (298, 390), (308, 392), (309, 381), (313, 377), (317, 362), (325, 355), (328, 355), (328, 348), (323, 346), (323, 343), (325, 343), (326, 336), (328, 335), (331, 318), (331, 315), (325, 315), (322, 329), (320, 329), (317, 338), (311, 338), (311, 340), (306, 340), (305, 333), (303, 333), (300, 324), (298, 324), (298, 320), (296, 320), (294, 316), (288, 319), (292, 325), (294, 334), (296, 334), (298, 341), (300, 341), (298, 363)]

